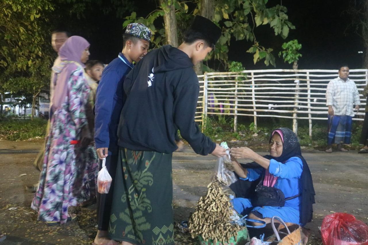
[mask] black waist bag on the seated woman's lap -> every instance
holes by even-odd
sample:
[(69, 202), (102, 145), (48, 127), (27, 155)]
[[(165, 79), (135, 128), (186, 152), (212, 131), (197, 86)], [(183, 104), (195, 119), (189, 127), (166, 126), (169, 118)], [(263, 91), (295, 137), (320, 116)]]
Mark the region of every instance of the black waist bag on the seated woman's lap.
[(259, 184), (254, 190), (254, 197), (251, 198), (251, 203), (253, 207), (283, 207), (285, 206), (285, 201), (297, 198), (300, 194), (285, 198), (284, 193), (275, 187), (268, 187), (263, 185), (263, 179), (265, 175), (259, 181)]

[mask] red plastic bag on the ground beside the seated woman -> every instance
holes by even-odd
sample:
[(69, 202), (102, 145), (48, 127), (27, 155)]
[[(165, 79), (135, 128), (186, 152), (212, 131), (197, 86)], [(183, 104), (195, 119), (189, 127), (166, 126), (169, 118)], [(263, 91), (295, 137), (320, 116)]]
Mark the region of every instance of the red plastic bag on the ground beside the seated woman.
[(324, 245), (368, 245), (368, 226), (348, 213), (327, 215), (321, 234)]

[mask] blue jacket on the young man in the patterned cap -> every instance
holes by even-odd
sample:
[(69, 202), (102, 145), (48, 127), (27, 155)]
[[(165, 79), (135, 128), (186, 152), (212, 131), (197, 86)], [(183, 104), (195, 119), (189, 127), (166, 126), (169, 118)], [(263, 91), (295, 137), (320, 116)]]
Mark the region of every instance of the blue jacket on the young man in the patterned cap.
[(96, 148), (117, 149), (117, 127), (123, 108), (123, 82), (133, 68), (122, 53), (103, 70), (95, 103)]

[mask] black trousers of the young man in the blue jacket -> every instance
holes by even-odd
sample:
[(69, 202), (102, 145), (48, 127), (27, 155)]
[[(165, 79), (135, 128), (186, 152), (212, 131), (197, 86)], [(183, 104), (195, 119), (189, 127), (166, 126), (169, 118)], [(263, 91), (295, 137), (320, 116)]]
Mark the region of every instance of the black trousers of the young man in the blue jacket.
[[(107, 231), (109, 229), (110, 212), (114, 193), (114, 182), (116, 175), (116, 167), (118, 162), (118, 149), (110, 151), (106, 157), (106, 168), (109, 171), (113, 181), (110, 186), (109, 193), (100, 194), (97, 192), (97, 224), (99, 231)], [(100, 160), (100, 170), (102, 168), (102, 160)]]

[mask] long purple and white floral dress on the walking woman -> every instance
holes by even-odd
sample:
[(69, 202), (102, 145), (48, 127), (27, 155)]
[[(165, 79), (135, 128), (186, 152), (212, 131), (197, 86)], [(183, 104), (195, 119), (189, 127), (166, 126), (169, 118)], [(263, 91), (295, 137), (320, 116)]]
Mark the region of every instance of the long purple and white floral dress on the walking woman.
[(88, 124), (85, 108), (91, 88), (78, 65), (68, 81), (65, 102), (50, 118), (40, 185), (31, 208), (38, 219), (66, 223), (68, 207), (77, 206), (96, 194), (98, 158), (95, 146), (80, 148), (81, 128)]

